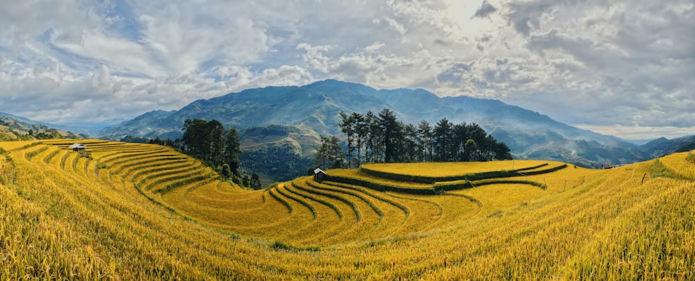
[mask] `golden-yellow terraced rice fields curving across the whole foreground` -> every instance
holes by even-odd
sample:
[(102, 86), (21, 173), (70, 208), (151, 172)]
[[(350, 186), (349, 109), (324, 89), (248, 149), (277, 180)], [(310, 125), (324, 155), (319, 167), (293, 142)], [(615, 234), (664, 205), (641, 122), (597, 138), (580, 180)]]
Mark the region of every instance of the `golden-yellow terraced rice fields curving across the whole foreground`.
[(0, 280), (693, 280), (695, 155), (363, 164), (248, 191), (172, 148), (0, 142)]

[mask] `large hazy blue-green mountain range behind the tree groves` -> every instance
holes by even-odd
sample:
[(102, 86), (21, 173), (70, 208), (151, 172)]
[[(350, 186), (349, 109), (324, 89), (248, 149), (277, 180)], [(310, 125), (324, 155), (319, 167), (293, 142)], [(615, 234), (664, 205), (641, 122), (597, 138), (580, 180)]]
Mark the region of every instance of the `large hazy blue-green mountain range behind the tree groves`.
[[(199, 100), (174, 112), (154, 111), (101, 130), (107, 139), (126, 135), (181, 137), (185, 119), (216, 119), (239, 130), (270, 124), (302, 126), (318, 135), (339, 133), (339, 112), (393, 110), (405, 123), (441, 118), (480, 125), (509, 146), (516, 158), (562, 160), (586, 167), (646, 159), (637, 146), (616, 137), (562, 124), (502, 101), (468, 96), (439, 97), (425, 90), (375, 90), (366, 85), (324, 80), (301, 87), (265, 87)], [(288, 139), (284, 139), (287, 141)], [(242, 142), (245, 140), (242, 139)]]

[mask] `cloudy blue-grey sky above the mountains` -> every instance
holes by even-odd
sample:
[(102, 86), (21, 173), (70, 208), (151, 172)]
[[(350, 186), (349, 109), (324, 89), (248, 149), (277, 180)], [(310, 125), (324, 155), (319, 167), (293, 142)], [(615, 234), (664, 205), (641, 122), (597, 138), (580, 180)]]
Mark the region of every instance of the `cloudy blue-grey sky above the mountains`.
[(692, 0), (0, 0), (0, 112), (116, 124), (328, 78), (695, 134)]

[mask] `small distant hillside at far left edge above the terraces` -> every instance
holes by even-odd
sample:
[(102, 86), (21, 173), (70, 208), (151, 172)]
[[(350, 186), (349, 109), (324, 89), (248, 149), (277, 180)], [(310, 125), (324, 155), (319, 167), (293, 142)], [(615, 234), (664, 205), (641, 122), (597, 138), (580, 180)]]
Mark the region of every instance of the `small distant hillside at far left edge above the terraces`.
[[(61, 128), (58, 128), (61, 127)], [(63, 130), (63, 126), (42, 123), (0, 112), (0, 141), (34, 138), (81, 138), (88, 135)]]

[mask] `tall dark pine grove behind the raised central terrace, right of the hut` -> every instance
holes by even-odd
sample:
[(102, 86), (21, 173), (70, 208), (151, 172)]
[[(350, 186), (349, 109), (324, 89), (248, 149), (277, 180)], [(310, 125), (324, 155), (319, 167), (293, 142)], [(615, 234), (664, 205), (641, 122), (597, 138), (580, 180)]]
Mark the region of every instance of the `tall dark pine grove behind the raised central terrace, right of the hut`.
[(466, 162), (509, 160), (509, 147), (475, 123), (453, 124), (446, 118), (404, 124), (392, 110), (378, 114), (341, 112), (344, 139), (321, 137), (316, 167), (352, 168), (363, 162)]

